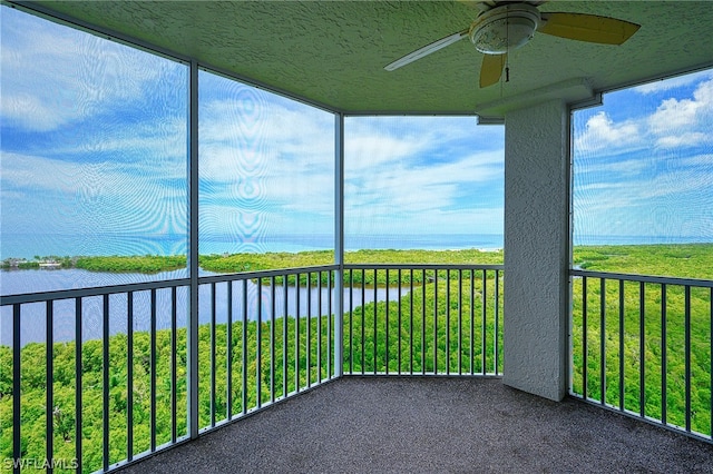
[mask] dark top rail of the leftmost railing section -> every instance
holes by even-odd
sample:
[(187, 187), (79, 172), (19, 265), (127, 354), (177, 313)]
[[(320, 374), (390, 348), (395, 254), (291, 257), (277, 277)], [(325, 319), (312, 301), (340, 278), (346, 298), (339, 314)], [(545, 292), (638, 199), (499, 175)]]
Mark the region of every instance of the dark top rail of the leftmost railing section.
[(147, 289), (173, 288), (178, 286), (188, 286), (191, 279), (166, 279), (157, 282), (129, 283), (124, 285), (98, 286), (77, 289), (58, 289), (53, 292), (41, 293), (23, 293), (18, 295), (0, 296), (0, 306), (9, 306), (23, 303), (40, 303), (52, 299), (70, 299), (88, 296), (114, 295), (117, 293), (144, 292)]

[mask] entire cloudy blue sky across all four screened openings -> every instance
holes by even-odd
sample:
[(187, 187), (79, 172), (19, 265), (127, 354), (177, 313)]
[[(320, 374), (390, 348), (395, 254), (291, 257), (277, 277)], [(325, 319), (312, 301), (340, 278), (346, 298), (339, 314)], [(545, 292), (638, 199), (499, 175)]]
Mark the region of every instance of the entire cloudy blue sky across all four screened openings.
[[(0, 11), (2, 257), (11, 233), (29, 231), (38, 254), (57, 234), (185, 235), (185, 65)], [(331, 235), (334, 117), (209, 72), (199, 81), (202, 237)], [(713, 239), (712, 110), (707, 71), (577, 111), (575, 235)], [(344, 176), (348, 236), (502, 233), (500, 126), (348, 117)], [(106, 241), (85, 240), (86, 254)]]

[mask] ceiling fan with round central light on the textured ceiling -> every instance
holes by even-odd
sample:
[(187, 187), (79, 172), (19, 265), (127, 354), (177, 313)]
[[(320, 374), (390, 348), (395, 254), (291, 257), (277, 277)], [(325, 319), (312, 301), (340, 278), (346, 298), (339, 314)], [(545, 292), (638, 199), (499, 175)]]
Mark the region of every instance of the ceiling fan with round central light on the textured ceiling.
[[(469, 38), (482, 52), (480, 87), (492, 86), (500, 80), (509, 51), (525, 46), (536, 31), (555, 37), (602, 45), (622, 45), (641, 27), (615, 18), (587, 13), (540, 12), (537, 7), (544, 1), (478, 2), (481, 10), (470, 27), (433, 41), (413, 52), (384, 66), (393, 71), (424, 56), (446, 48), (463, 38)], [(506, 79), (509, 79), (506, 70)]]

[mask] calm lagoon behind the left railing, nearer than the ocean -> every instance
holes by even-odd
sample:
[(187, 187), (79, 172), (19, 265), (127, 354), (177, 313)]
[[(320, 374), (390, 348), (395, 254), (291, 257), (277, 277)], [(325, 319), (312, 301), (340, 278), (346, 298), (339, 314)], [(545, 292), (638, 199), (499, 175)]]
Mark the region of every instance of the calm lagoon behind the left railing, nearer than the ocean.
[[(207, 271), (201, 271), (202, 276), (214, 275)], [(3, 289), (36, 288), (36, 292), (47, 292), (65, 288), (81, 288), (87, 286), (88, 282), (96, 282), (97, 276), (101, 276), (104, 285), (120, 285), (126, 283), (143, 280), (164, 280), (170, 278), (182, 278), (179, 271), (167, 271), (157, 275), (141, 274), (95, 274), (80, 269), (59, 269), (59, 270), (3, 270), (1, 276), (7, 285)], [(41, 288), (41, 289), (39, 289)], [(271, 286), (262, 285), (260, 288), (251, 280), (245, 285), (246, 297), (243, 295), (243, 283), (233, 284), (233, 320), (242, 320), (246, 317), (248, 320), (270, 320), (273, 317)], [(326, 287), (294, 287), (287, 286), (285, 295), (282, 285), (274, 287), (274, 317), (279, 318), (285, 314), (289, 316), (306, 317), (326, 315), (330, 309), (335, 310), (334, 289), (330, 295)], [(8, 294), (27, 293), (10, 292)], [(351, 294), (350, 294), (351, 293)], [(391, 288), (367, 288), (362, 300), (361, 288), (355, 287), (352, 290), (344, 289), (343, 302), (349, 307), (350, 298), (353, 307), (362, 306), (371, 302), (385, 300), (387, 294), (390, 300), (398, 300), (401, 296), (408, 294), (407, 288), (399, 290), (398, 287)], [(185, 327), (187, 320), (188, 308), (188, 290), (186, 287), (178, 288), (176, 292), (176, 324), (178, 327)], [(286, 296), (286, 299), (285, 299)], [(331, 296), (331, 300), (330, 300)], [(169, 328), (172, 325), (170, 314), (170, 289), (160, 289), (156, 292), (156, 327), (158, 329)], [(247, 306), (244, 306), (244, 302)], [(216, 284), (215, 307), (216, 322), (224, 324), (227, 322), (228, 307), (227, 284)], [(331, 308), (330, 308), (331, 304)], [(260, 305), (260, 310), (258, 310)], [(136, 292), (134, 294), (134, 330), (150, 329), (150, 292)], [(211, 285), (201, 285), (198, 292), (198, 319), (201, 324), (211, 322), (213, 307), (213, 298), (211, 295)], [(55, 342), (75, 340), (76, 326), (76, 308), (75, 300), (57, 300), (53, 305), (53, 339)], [(127, 333), (127, 314), (128, 302), (126, 294), (109, 296), (109, 334)], [(99, 339), (102, 337), (104, 330), (104, 298), (101, 296), (82, 298), (81, 320), (82, 320), (82, 340)], [(22, 346), (29, 343), (43, 343), (47, 340), (46, 334), (46, 304), (28, 304), (22, 305), (20, 326), (20, 344)], [(0, 308), (0, 345), (12, 345), (12, 307), (3, 306)]]

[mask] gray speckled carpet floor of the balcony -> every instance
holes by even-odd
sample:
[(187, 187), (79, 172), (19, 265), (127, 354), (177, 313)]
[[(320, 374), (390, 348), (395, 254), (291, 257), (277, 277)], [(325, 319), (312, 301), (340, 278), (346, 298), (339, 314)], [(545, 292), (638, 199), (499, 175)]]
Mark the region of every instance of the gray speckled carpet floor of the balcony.
[(713, 444), (494, 378), (342, 377), (121, 473), (713, 473)]

